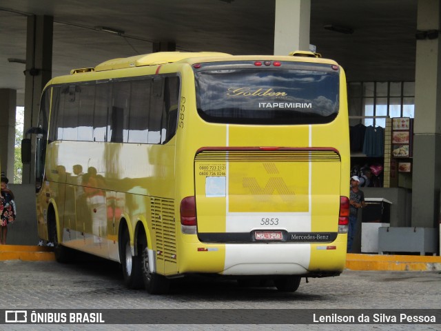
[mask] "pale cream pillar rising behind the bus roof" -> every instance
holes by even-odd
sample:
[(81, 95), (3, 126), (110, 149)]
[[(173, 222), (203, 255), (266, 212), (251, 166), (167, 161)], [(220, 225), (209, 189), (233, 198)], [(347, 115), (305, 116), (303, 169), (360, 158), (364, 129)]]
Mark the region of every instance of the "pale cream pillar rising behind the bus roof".
[(311, 0), (276, 0), (274, 55), (309, 50)]

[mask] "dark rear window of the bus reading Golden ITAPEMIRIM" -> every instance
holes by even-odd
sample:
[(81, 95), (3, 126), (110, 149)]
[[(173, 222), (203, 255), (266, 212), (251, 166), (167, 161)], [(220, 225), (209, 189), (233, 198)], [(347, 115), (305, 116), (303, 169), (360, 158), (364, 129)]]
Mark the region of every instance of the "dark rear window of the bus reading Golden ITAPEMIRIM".
[(316, 124), (335, 119), (339, 74), (315, 70), (195, 72), (199, 115), (214, 123)]

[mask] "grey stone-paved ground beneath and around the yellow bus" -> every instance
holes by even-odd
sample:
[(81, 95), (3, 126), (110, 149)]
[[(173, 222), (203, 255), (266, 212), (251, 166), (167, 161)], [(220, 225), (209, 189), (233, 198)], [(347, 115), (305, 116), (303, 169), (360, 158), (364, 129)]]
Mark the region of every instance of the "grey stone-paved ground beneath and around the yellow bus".
[[(294, 293), (240, 288), (231, 279), (180, 279), (172, 293), (123, 285), (110, 261), (0, 261), (0, 309), (411, 309), (440, 308), (441, 272), (345, 270), (302, 279)], [(4, 328), (8, 326), (8, 328)], [(440, 325), (0, 325), (0, 330), (440, 330)]]

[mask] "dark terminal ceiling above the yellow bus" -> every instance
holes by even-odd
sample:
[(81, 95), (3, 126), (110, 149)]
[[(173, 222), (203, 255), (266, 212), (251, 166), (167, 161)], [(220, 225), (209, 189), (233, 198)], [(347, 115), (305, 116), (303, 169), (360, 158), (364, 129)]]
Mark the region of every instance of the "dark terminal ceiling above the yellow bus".
[[(275, 0), (1, 0), (0, 88), (17, 90), (23, 106), (25, 65), (8, 59), (25, 59), (30, 14), (54, 17), (57, 76), (150, 53), (158, 41), (176, 43), (181, 51), (273, 54), (275, 6)], [(348, 81), (413, 81), (416, 17), (417, 0), (311, 0), (310, 43), (322, 57), (338, 61)]]

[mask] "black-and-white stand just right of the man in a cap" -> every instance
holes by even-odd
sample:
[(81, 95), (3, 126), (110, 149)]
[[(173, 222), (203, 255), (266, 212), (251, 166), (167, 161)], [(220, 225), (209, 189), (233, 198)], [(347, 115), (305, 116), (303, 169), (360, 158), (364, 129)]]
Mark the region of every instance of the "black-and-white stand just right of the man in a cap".
[(361, 252), (378, 253), (378, 229), (389, 226), (392, 203), (384, 198), (365, 198), (365, 203), (361, 219)]

